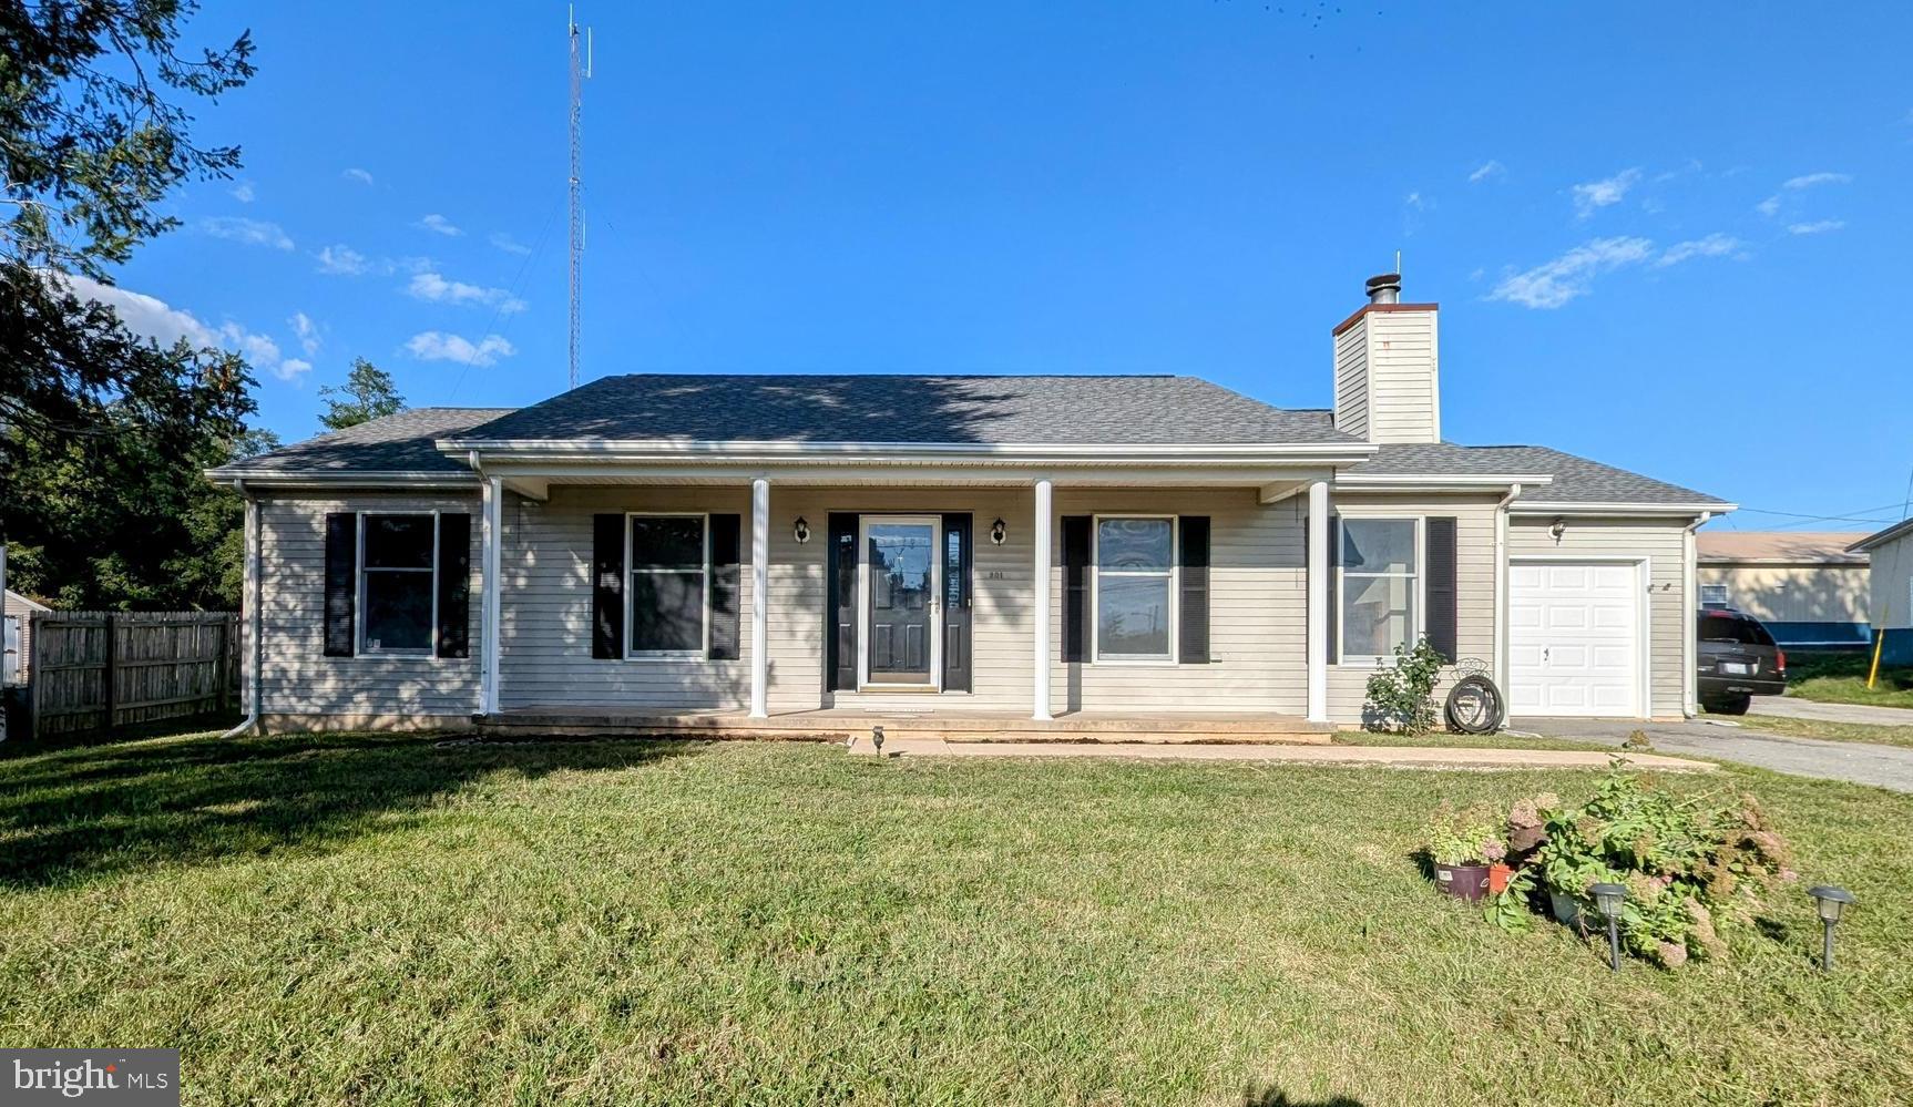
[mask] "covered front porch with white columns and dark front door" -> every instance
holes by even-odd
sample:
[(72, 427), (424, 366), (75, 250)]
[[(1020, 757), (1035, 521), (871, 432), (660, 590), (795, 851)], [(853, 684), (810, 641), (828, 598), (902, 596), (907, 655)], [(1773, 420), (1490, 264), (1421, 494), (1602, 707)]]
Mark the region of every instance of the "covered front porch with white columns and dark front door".
[(1331, 717), (1308, 644), (1341, 447), (480, 445), (488, 728), (1217, 740)]

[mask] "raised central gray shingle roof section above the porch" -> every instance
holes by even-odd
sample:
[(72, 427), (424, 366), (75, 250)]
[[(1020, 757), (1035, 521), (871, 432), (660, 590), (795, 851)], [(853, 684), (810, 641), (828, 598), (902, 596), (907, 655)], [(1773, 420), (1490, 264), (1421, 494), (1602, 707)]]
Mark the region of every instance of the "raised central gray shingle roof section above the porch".
[(474, 428), (474, 440), (1018, 445), (1337, 444), (1196, 377), (605, 377)]

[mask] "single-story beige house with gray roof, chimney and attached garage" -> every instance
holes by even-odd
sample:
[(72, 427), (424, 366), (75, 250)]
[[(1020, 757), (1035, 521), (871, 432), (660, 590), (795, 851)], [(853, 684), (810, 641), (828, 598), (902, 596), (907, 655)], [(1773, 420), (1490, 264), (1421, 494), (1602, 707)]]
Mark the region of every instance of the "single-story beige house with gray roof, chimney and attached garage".
[(1398, 287), (1333, 327), (1331, 411), (1194, 377), (606, 377), (212, 470), (249, 505), (251, 705), (1356, 723), (1427, 635), (1515, 715), (1682, 715), (1693, 532), (1733, 505), (1442, 442), (1437, 306)]

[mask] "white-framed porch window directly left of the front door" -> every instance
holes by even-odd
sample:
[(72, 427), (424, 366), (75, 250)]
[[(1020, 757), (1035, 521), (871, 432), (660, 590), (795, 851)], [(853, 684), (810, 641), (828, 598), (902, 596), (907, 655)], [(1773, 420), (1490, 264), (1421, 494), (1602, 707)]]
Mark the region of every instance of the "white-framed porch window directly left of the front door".
[(702, 658), (712, 625), (710, 516), (631, 512), (624, 541), (624, 656)]

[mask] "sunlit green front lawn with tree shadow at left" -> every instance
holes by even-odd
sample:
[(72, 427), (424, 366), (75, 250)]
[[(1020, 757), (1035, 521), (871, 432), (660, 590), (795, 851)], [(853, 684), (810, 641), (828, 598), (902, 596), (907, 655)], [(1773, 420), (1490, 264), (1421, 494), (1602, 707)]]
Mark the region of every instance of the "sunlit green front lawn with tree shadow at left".
[(0, 1042), (187, 1103), (1890, 1103), (1913, 795), (1726, 769), (1861, 901), (1615, 977), (1410, 860), (1594, 772), (207, 736), (0, 755)]

